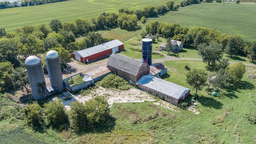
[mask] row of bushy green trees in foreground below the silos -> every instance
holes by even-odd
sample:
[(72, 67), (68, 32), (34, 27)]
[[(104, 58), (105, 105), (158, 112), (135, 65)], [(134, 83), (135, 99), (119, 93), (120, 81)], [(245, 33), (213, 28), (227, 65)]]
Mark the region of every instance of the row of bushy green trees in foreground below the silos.
[(104, 96), (96, 96), (84, 104), (82, 102), (71, 102), (70, 110), (66, 111), (61, 99), (54, 102), (37, 102), (23, 108), (22, 112), (26, 118), (27, 124), (35, 130), (52, 127), (56, 130), (68, 130), (71, 128), (76, 133), (85, 130), (94, 130), (97, 127), (109, 127), (108, 118), (110, 108)]

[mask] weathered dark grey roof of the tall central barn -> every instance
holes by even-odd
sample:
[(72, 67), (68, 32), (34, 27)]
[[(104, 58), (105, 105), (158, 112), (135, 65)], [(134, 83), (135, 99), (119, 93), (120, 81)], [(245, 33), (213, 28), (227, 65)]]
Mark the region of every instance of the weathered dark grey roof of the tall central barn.
[(112, 66), (113, 68), (122, 70), (134, 76), (137, 76), (142, 64), (141, 61), (129, 58), (122, 54), (111, 54), (107, 62), (108, 66)]

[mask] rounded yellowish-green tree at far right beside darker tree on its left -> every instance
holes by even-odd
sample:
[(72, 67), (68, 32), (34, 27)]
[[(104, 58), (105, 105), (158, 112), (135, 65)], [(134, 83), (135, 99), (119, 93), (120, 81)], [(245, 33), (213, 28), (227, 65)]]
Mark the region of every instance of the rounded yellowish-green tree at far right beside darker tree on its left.
[(228, 69), (228, 75), (230, 76), (230, 83), (238, 84), (243, 78), (246, 72), (245, 65), (242, 62), (232, 64)]

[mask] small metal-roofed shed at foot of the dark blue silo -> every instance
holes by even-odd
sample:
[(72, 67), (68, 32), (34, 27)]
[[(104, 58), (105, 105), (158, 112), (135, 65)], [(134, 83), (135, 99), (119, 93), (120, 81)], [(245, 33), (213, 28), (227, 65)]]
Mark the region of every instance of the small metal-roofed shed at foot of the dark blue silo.
[(150, 65), (150, 75), (151, 76), (162, 76), (167, 73), (167, 67), (162, 63), (156, 63)]

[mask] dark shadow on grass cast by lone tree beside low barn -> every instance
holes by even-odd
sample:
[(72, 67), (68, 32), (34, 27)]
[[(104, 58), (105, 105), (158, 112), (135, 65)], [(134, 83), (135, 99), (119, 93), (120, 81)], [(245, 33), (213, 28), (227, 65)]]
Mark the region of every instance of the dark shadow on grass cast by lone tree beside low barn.
[(206, 97), (206, 96), (199, 96), (197, 101), (202, 104), (204, 107), (214, 108), (214, 109), (221, 109), (223, 104), (214, 98)]

